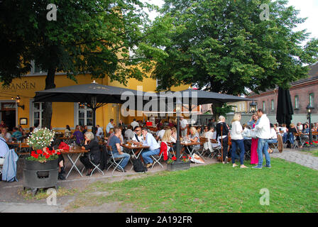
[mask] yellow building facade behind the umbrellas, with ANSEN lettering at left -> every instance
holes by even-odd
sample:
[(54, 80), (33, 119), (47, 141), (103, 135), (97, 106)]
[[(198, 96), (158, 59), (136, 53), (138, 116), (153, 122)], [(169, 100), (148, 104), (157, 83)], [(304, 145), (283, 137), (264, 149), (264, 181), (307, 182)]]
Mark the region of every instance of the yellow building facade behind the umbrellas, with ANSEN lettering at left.
[[(35, 92), (45, 89), (45, 72), (34, 72), (34, 69), (30, 74), (27, 74), (21, 79), (13, 79), (13, 82), (9, 87), (0, 87), (0, 120), (4, 121), (9, 130), (13, 126), (21, 125), (23, 128), (28, 129), (39, 123), (42, 123), (42, 103), (33, 102)], [(77, 77), (78, 84), (89, 84), (93, 81), (90, 74), (80, 74)], [(104, 79), (95, 79), (97, 83), (124, 87), (119, 82), (110, 82), (108, 77)], [(76, 85), (76, 82), (68, 79), (66, 74), (57, 73), (55, 75), (56, 87), (66, 87)], [(138, 89), (138, 86), (142, 86), (143, 92), (155, 92), (157, 82), (155, 79), (144, 78), (143, 82), (138, 82), (136, 79), (130, 79), (128, 81), (128, 89)], [(187, 89), (189, 85), (180, 86), (172, 89), (172, 91)], [(19, 106), (16, 105), (14, 98), (20, 96), (21, 101)], [(13, 99), (11, 99), (13, 97)], [(141, 115), (141, 116), (140, 116)], [(134, 116), (123, 117), (120, 114), (119, 104), (107, 104), (99, 109), (96, 113), (96, 124), (106, 128), (110, 118), (114, 118), (115, 123), (118, 123), (119, 119), (122, 119), (124, 123), (131, 123), (133, 118), (137, 120), (143, 120), (141, 113)], [(69, 125), (71, 129), (74, 129), (76, 125), (92, 125), (92, 111), (89, 111), (86, 107), (79, 106), (78, 103), (62, 103), (53, 102), (53, 115), (51, 124), (53, 129), (64, 131), (65, 126)], [(89, 129), (91, 127), (88, 127)]]

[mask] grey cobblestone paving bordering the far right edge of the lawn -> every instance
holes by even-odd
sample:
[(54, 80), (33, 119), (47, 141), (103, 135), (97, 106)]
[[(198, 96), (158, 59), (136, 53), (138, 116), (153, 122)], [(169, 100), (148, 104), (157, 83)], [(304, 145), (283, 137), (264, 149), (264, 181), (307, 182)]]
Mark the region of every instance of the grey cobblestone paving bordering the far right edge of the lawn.
[(318, 157), (300, 150), (284, 148), (283, 153), (272, 153), (270, 157), (279, 157), (288, 162), (295, 162), (299, 165), (318, 170)]

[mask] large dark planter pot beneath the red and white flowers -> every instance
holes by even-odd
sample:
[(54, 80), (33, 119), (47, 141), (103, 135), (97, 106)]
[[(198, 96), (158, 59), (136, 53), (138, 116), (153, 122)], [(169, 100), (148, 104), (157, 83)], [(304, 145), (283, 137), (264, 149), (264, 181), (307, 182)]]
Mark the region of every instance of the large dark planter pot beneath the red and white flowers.
[(23, 168), (23, 189), (31, 188), (33, 196), (38, 189), (57, 188), (58, 159), (47, 162), (25, 160)]

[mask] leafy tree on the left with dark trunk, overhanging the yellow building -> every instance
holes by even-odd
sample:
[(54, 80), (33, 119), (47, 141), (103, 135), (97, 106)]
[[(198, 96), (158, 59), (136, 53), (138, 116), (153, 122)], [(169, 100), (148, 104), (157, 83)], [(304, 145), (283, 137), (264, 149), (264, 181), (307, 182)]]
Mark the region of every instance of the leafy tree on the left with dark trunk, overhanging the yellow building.
[[(47, 19), (48, 4), (57, 6), (56, 21)], [(123, 84), (143, 79), (150, 60), (130, 51), (162, 52), (143, 41), (160, 29), (150, 29), (143, 9), (155, 7), (139, 0), (0, 1), (0, 82), (30, 72), (31, 60), (48, 72), (45, 89), (55, 87), (56, 72), (75, 81), (84, 73)], [(50, 126), (51, 117), (52, 104), (45, 103), (43, 126)]]

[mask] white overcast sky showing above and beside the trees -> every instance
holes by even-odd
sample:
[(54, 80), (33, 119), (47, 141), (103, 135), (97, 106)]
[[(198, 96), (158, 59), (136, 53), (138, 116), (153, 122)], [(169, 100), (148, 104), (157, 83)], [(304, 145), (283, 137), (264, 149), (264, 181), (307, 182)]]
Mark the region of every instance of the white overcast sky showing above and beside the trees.
[[(162, 6), (163, 0), (143, 0), (150, 4)], [(312, 33), (310, 38), (318, 38), (318, 0), (289, 0), (288, 6), (295, 6), (295, 9), (300, 10), (298, 15), (301, 18), (306, 18), (307, 21), (298, 26), (298, 30), (307, 29), (307, 32)], [(157, 16), (155, 13), (150, 13), (150, 18), (153, 20)]]

